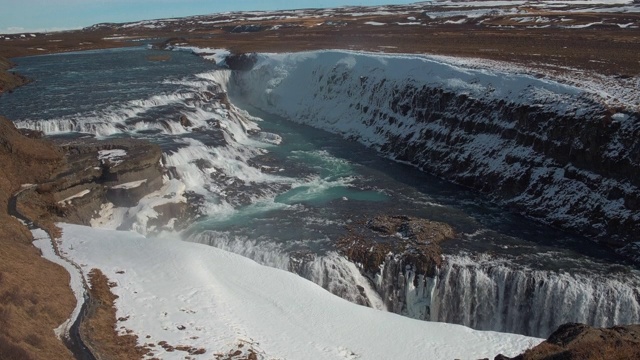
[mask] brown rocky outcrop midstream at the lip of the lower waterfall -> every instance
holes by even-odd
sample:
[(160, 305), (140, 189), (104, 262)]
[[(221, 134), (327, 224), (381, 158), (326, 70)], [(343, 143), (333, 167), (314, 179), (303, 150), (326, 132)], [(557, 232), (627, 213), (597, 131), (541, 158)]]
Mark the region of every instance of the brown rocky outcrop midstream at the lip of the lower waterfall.
[(389, 311), (428, 319), (429, 304), (416, 304), (442, 263), (440, 243), (455, 236), (447, 224), (409, 216), (377, 216), (352, 225), (337, 248), (356, 263), (376, 287)]

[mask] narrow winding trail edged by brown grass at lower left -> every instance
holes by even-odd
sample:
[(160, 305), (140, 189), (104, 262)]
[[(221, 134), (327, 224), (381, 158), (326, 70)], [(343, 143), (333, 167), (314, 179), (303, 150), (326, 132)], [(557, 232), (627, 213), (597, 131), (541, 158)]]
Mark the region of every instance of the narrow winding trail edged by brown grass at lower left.
[[(28, 217), (20, 213), (17, 208), (18, 197), (23, 191), (28, 190), (31, 187), (33, 186), (25, 187), (20, 191), (16, 192), (15, 194), (13, 194), (9, 198), (9, 202), (7, 204), (7, 213), (10, 216), (13, 216), (14, 218), (22, 221), (29, 228), (29, 230), (36, 230), (40, 228), (38, 228), (33, 223), (33, 221), (31, 221), (31, 219), (29, 219)], [(51, 242), (51, 246), (53, 247), (53, 251), (55, 255), (58, 258), (60, 258), (62, 261), (74, 267), (78, 271), (78, 274), (82, 279), (82, 287), (84, 290), (83, 302), (82, 302), (82, 306), (80, 307), (80, 311), (78, 312), (78, 315), (75, 319), (69, 319), (69, 321), (73, 320), (73, 324), (70, 327), (67, 327), (67, 329), (65, 329), (65, 333), (61, 334), (62, 340), (65, 346), (73, 353), (73, 356), (75, 359), (96, 360), (96, 357), (91, 352), (91, 349), (89, 349), (89, 347), (84, 343), (84, 341), (82, 341), (82, 335), (80, 334), (80, 324), (82, 324), (82, 322), (84, 321), (84, 315), (87, 310), (87, 305), (91, 302), (91, 295), (88, 291), (89, 285), (82, 273), (80, 266), (60, 253), (60, 250), (58, 249), (58, 245), (56, 241), (51, 236), (49, 236), (49, 240)], [(80, 301), (80, 299), (77, 299), (77, 300)]]

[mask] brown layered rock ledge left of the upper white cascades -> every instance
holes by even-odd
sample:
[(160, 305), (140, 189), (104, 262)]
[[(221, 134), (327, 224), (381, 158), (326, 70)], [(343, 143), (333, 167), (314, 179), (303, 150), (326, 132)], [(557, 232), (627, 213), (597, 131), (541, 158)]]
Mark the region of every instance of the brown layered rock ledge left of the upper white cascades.
[(57, 204), (48, 211), (60, 220), (89, 225), (103, 204), (135, 206), (162, 186), (162, 153), (157, 145), (133, 139), (80, 139), (57, 145), (66, 154), (65, 164), (50, 181), (23, 191), (19, 208), (48, 199)]

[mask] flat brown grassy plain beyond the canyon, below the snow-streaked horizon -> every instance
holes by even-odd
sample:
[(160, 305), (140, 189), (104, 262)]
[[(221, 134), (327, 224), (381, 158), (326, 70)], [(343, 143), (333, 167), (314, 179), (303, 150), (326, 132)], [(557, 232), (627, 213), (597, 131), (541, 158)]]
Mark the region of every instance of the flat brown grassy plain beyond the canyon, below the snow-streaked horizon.
[[(436, 9), (433, 9), (436, 10)], [(530, 14), (550, 16), (545, 10), (529, 9)], [(534, 14), (533, 12), (536, 12)], [(452, 56), (479, 57), (492, 60), (511, 61), (530, 66), (575, 67), (607, 75), (634, 76), (640, 74), (637, 49), (640, 45), (640, 29), (620, 29), (617, 26), (570, 28), (525, 28), (510, 17), (496, 16), (482, 24), (441, 24), (429, 22), (419, 12), (415, 17), (429, 26), (401, 26), (408, 14), (367, 15), (354, 18), (349, 14), (331, 19), (345, 26), (317, 26), (317, 18), (265, 20), (248, 18), (224, 26), (212, 26), (189, 31), (184, 25), (176, 29), (118, 29), (127, 40), (112, 39), (110, 30), (90, 32), (71, 31), (40, 35), (36, 38), (5, 41), (0, 43), (0, 56), (14, 57), (43, 53), (54, 53), (96, 48), (135, 46), (133, 39), (184, 38), (193, 45), (225, 47), (236, 52), (283, 52), (316, 49), (352, 49), (382, 52), (442, 54)], [(572, 24), (595, 21), (621, 22), (640, 21), (636, 14), (599, 13), (554, 13), (554, 17), (569, 17)], [(624, 20), (624, 21), (623, 21)], [(366, 25), (366, 21), (379, 21), (385, 26)], [(297, 27), (283, 27), (275, 31), (253, 33), (229, 33), (228, 29), (241, 24), (256, 24), (264, 27), (285, 23)], [(509, 25), (512, 27), (496, 27)], [(107, 40), (105, 40), (105, 38)], [(52, 42), (54, 41), (54, 42)], [(37, 50), (45, 49), (44, 51)]]

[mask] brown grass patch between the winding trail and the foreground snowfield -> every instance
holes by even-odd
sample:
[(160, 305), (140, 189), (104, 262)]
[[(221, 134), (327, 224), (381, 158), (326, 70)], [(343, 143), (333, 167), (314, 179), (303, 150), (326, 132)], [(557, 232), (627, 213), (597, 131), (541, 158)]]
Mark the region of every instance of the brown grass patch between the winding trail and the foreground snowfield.
[(117, 299), (110, 288), (109, 279), (98, 269), (89, 273), (91, 282), (91, 302), (85, 315), (85, 321), (80, 325), (82, 338), (97, 358), (113, 360), (140, 359), (146, 350), (137, 346), (138, 337), (135, 335), (118, 335), (116, 324)]

